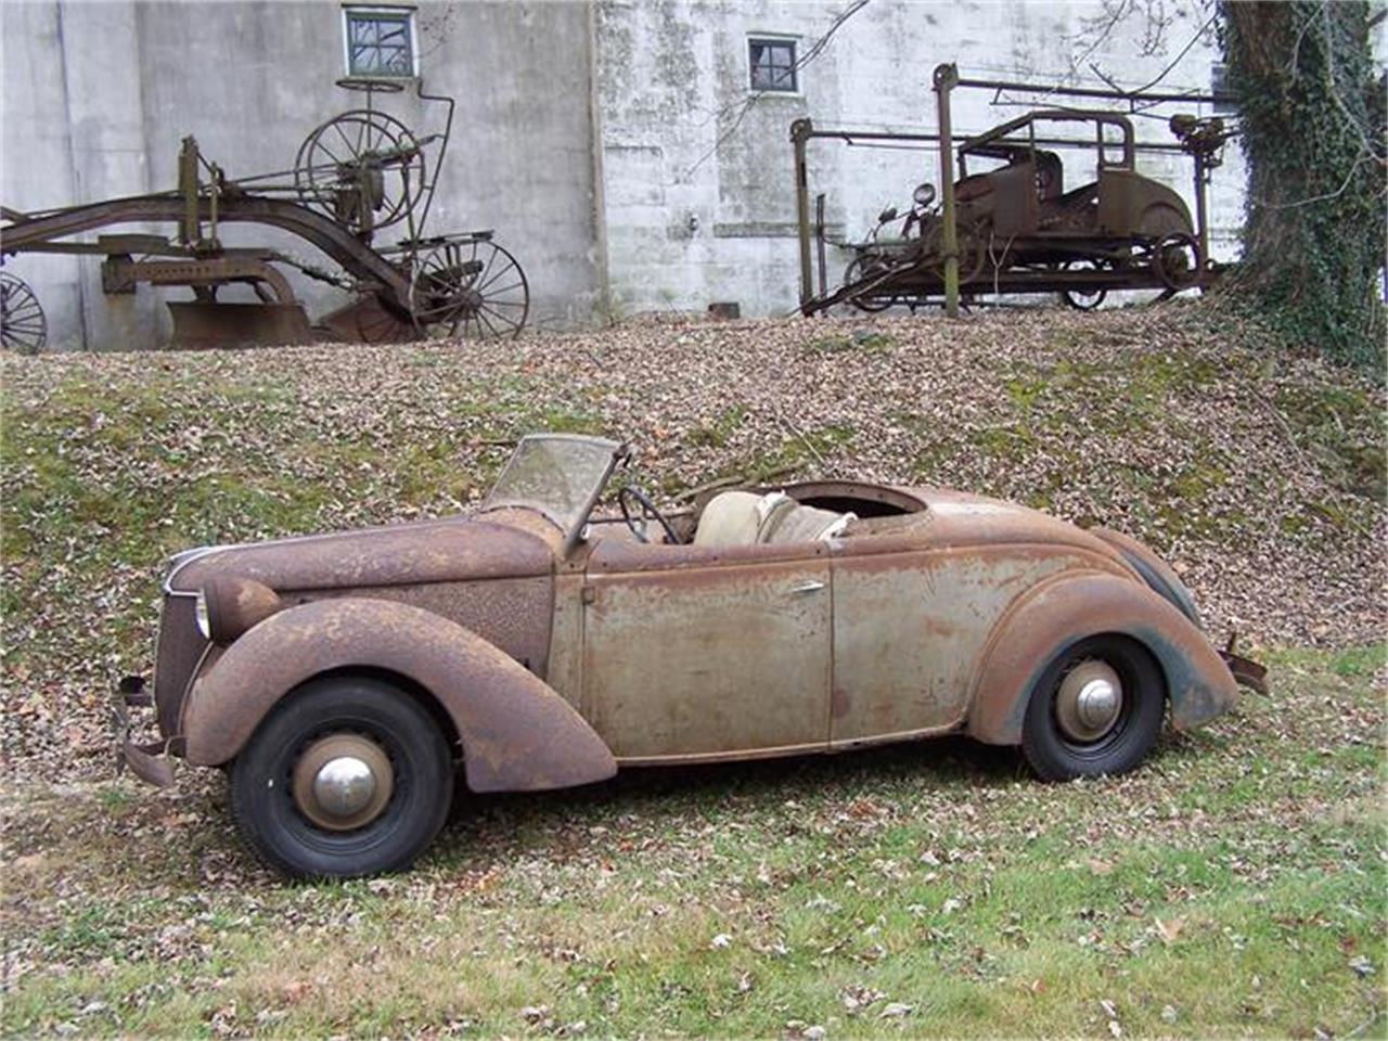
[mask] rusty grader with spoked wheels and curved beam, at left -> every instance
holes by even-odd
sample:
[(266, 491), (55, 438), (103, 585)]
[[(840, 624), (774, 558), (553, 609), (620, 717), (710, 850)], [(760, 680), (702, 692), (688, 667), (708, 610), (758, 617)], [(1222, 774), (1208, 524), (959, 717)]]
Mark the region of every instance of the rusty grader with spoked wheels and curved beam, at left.
[[(416, 135), (375, 101), (379, 93), (400, 92), (398, 82), (343, 79), (339, 86), (359, 92), (364, 103), (304, 137), (291, 169), (230, 179), (189, 136), (175, 190), (39, 212), (0, 208), (0, 262), (22, 253), (100, 255), (105, 293), (135, 293), (142, 282), (189, 287), (192, 300), (169, 301), (174, 344), (185, 347), (518, 335), (530, 305), (520, 262), (490, 230), (425, 235), (452, 133), (454, 100), (426, 94), (418, 85), (421, 101), (443, 107), (446, 115), (441, 130)], [(176, 232), (72, 239), (126, 223), (174, 225)], [(219, 229), (228, 223), (289, 232), (333, 264), (225, 246)], [(403, 236), (380, 246), (386, 229)], [(285, 268), (353, 298), (310, 326)], [(232, 285), (248, 285), (257, 301), (218, 300), (218, 290)], [(46, 323), (33, 293), (8, 271), (0, 271), (0, 290), (4, 346), (40, 350)]]

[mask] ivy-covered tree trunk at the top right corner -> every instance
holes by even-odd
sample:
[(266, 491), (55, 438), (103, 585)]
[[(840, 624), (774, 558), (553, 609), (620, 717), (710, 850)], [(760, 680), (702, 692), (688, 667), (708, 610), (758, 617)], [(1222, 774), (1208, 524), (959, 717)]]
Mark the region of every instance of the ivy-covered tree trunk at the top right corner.
[(1220, 35), (1248, 155), (1231, 300), (1382, 375), (1385, 83), (1363, 0), (1226, 0)]

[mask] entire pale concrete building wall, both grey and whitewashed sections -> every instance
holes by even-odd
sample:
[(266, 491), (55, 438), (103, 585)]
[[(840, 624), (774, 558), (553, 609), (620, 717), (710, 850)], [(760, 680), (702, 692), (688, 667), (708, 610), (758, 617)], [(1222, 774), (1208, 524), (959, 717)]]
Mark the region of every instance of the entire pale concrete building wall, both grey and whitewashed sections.
[[(1181, 53), (1209, 18), (1198, 0), (1123, 8), (1117, 21), (1112, 0), (872, 0), (799, 71), (797, 93), (751, 94), (750, 35), (793, 37), (804, 58), (848, 7), (423, 0), (415, 14), (423, 83), (458, 99), (426, 233), (494, 229), (529, 275), (540, 326), (702, 311), (712, 301), (737, 301), (745, 315), (784, 314), (795, 307), (799, 273), (794, 119), (934, 130), (931, 72), (942, 61), (981, 78), (1098, 83), (1098, 69), (1127, 87), (1162, 76), (1163, 89), (1206, 92), (1217, 60), (1212, 36)], [(1167, 19), (1160, 32), (1149, 12)], [(1384, 28), (1376, 31), (1380, 57)], [(287, 169), (319, 122), (362, 104), (362, 94), (335, 86), (343, 51), (337, 0), (6, 0), (0, 200), (37, 210), (174, 187), (185, 133), (232, 178)], [(443, 108), (409, 93), (376, 104), (418, 133), (443, 129)], [(959, 90), (955, 130), (1020, 111)], [(1140, 139), (1173, 140), (1165, 112), (1137, 125)], [(1067, 185), (1092, 178), (1092, 157), (1065, 160)], [(847, 240), (862, 240), (883, 207), (904, 208), (915, 185), (938, 182), (933, 146), (816, 142), (809, 161), (831, 237)], [(1142, 154), (1140, 169), (1191, 200), (1187, 158)], [(1223, 260), (1238, 251), (1242, 185), (1242, 157), (1230, 146), (1210, 194)], [(321, 260), (272, 229), (225, 226), (222, 237)], [(831, 280), (847, 260), (831, 251)], [(10, 265), (43, 301), (56, 347), (158, 341), (169, 328), (162, 301), (189, 297), (149, 286), (105, 296), (96, 258), (28, 254)], [(291, 280), (311, 315), (348, 298), (297, 273)], [(250, 298), (248, 290), (230, 298), (237, 293)]]

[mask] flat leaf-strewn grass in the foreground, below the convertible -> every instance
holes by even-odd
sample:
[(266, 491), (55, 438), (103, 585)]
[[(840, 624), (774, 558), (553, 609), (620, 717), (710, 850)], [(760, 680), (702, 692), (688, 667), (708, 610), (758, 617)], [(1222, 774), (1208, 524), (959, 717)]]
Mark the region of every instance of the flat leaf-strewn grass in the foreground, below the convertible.
[(0, 1026), (1381, 1035), (1388, 654), (1264, 657), (1271, 698), (1124, 779), (1044, 786), (965, 741), (632, 772), (465, 797), (386, 880), (255, 867), (219, 779), (31, 788)]

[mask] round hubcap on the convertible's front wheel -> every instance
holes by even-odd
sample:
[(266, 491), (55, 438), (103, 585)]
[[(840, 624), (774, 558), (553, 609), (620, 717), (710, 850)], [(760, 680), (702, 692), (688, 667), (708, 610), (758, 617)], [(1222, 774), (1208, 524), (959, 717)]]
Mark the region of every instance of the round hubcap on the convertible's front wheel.
[(294, 766), (294, 804), (319, 827), (350, 831), (390, 801), (394, 770), (384, 750), (361, 734), (319, 738)]

